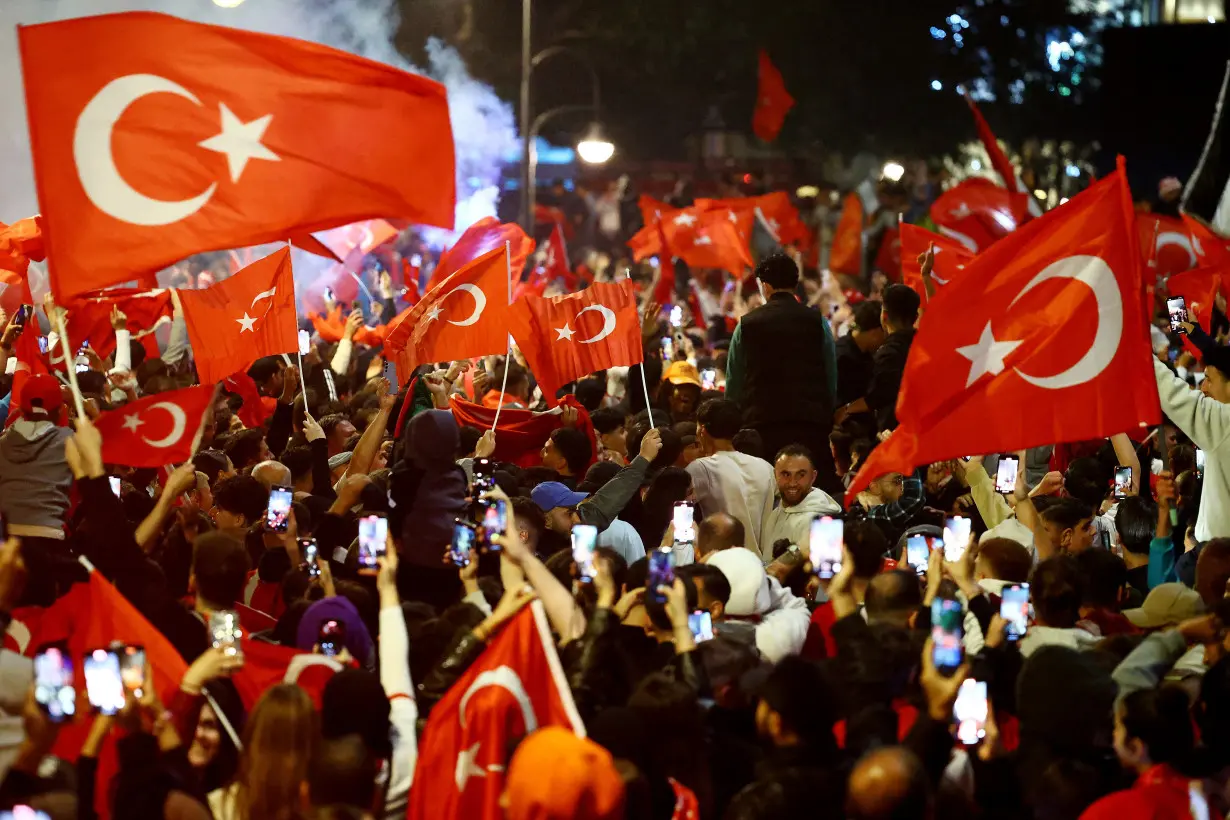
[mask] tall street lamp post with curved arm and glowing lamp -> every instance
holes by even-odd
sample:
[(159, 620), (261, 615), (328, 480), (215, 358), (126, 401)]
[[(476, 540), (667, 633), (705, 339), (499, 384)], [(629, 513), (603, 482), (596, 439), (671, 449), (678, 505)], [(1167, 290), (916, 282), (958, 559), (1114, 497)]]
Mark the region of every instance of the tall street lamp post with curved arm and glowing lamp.
[[(577, 154), (585, 162), (600, 165), (611, 159), (615, 154), (615, 145), (608, 140), (598, 124), (601, 111), (601, 96), (598, 85), (598, 71), (594, 64), (577, 49), (568, 45), (557, 44), (544, 48), (538, 54), (531, 48), (533, 26), (533, 0), (522, 0), (522, 225), (525, 232), (534, 234), (534, 205), (538, 199), (538, 150), (535, 140), (546, 122), (557, 114), (573, 113), (578, 111), (592, 111), (593, 122), (585, 136), (577, 144)], [(593, 89), (593, 102), (588, 106), (560, 106), (538, 117), (533, 117), (530, 104), (530, 79), (534, 69), (556, 54), (572, 54), (584, 64), (589, 71), (589, 80)]]

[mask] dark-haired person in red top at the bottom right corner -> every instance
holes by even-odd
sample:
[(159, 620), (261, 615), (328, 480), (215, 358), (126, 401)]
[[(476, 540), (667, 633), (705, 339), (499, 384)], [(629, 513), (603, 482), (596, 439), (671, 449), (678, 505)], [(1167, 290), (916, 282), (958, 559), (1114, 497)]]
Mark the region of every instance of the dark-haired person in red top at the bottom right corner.
[(1187, 692), (1178, 686), (1130, 692), (1114, 709), (1114, 752), (1137, 782), (1107, 794), (1081, 819), (1193, 816), (1188, 768), (1194, 750)]

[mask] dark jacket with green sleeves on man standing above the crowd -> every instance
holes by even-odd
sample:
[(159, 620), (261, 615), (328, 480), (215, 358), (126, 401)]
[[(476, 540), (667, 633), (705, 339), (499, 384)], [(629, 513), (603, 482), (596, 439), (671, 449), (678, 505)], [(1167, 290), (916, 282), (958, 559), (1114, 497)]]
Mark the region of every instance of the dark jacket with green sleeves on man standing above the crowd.
[[(833, 342), (819, 311), (801, 305), (793, 294), (776, 293), (739, 321), (736, 342), (731, 358), (738, 360), (742, 384), (733, 398), (745, 425), (833, 427)], [(727, 379), (729, 387), (729, 370)]]

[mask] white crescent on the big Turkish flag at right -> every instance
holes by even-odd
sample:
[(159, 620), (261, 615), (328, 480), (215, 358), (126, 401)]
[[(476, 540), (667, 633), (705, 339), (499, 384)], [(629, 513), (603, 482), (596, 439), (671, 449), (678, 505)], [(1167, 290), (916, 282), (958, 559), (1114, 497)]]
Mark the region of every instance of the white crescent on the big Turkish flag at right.
[(1030, 284), (1016, 295), (1009, 307), (1030, 293), (1034, 285), (1048, 279), (1074, 279), (1093, 291), (1093, 299), (1097, 302), (1097, 332), (1093, 333), (1093, 343), (1076, 364), (1054, 376), (1031, 376), (1021, 373), (1020, 368), (1014, 368), (1014, 370), (1036, 387), (1063, 390), (1084, 385), (1097, 377), (1114, 359), (1114, 354), (1119, 349), (1119, 339), (1123, 337), (1123, 296), (1119, 293), (1119, 283), (1114, 278), (1114, 272), (1102, 258), (1070, 256), (1052, 262), (1038, 272), (1030, 280)]

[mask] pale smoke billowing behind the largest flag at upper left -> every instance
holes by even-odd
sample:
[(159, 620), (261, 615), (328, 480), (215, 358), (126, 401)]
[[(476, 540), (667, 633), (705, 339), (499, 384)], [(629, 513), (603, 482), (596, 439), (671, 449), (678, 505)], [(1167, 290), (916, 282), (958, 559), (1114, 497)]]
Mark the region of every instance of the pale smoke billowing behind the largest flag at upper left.
[[(161, 11), (296, 37), (432, 76), (449, 93), (458, 168), (455, 227), (460, 231), (494, 214), (502, 157), (519, 144), (512, 107), (470, 76), (460, 55), (439, 41), (427, 44), (426, 69), (407, 63), (392, 44), (397, 32), (394, 0), (246, 0), (235, 9), (212, 0), (0, 0), (0, 221), (38, 213), (16, 26), (118, 11)], [(71, 70), (69, 57), (64, 70)]]

